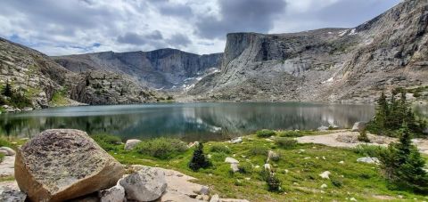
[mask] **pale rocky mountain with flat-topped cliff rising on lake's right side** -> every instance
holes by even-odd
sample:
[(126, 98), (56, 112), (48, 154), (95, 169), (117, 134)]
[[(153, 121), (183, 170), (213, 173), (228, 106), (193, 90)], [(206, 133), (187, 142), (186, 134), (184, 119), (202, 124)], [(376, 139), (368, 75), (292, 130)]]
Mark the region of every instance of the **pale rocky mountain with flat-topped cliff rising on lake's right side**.
[(374, 101), (428, 85), (428, 2), (407, 0), (356, 28), (232, 33), (219, 72), (188, 92), (200, 100)]

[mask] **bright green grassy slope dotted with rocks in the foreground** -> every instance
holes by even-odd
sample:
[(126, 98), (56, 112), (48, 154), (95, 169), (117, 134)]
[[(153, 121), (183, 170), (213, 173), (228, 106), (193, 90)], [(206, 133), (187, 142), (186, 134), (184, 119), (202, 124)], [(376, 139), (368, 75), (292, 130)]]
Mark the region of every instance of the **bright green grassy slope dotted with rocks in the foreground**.
[[(232, 153), (209, 152), (211, 146), (218, 144), (227, 145)], [(413, 198), (428, 199), (406, 191), (388, 190), (379, 167), (357, 163), (357, 158), (361, 156), (350, 149), (314, 144), (300, 144), (292, 149), (278, 149), (273, 142), (251, 135), (243, 139), (243, 144), (207, 142), (204, 150), (206, 154), (212, 155), (211, 161), (214, 166), (194, 173), (187, 167), (192, 156), (192, 149), (176, 158), (160, 160), (140, 155), (136, 151), (125, 151), (122, 147), (123, 145), (119, 145), (116, 150), (110, 151), (111, 155), (121, 163), (161, 166), (180, 171), (198, 178), (199, 183), (210, 185), (213, 192), (218, 193), (222, 198), (246, 198), (251, 201), (309, 201), (314, 199), (317, 201), (333, 199), (343, 201), (347, 198), (375, 201), (379, 199), (377, 198), (379, 196), (391, 196), (400, 201), (413, 200)], [(281, 155), (278, 162), (271, 164), (276, 169), (277, 176), (283, 181), (284, 193), (271, 193), (266, 189), (266, 183), (260, 179), (259, 171), (267, 157), (253, 155), (251, 149), (254, 147), (273, 149)], [(243, 156), (248, 157), (248, 160)], [(260, 166), (260, 168), (253, 168), (250, 174), (230, 174), (229, 165), (224, 163), (226, 157), (236, 158), (241, 165), (252, 164)], [(344, 164), (339, 163), (341, 161), (344, 161)], [(289, 171), (288, 174), (285, 169)], [(331, 180), (321, 179), (318, 176), (325, 171), (332, 173)], [(251, 180), (245, 180), (245, 178), (251, 178)], [(342, 186), (335, 187), (333, 181), (342, 183)], [(328, 186), (327, 189), (320, 189), (323, 183)], [(399, 196), (402, 196), (403, 199), (399, 199)]]

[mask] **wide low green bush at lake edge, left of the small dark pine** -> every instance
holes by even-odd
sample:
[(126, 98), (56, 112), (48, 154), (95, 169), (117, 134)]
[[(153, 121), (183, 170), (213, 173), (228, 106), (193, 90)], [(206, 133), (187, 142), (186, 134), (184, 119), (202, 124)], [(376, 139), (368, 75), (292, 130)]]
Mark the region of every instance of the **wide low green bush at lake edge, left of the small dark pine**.
[(173, 158), (186, 150), (185, 142), (164, 137), (141, 141), (136, 145), (138, 153), (161, 159)]

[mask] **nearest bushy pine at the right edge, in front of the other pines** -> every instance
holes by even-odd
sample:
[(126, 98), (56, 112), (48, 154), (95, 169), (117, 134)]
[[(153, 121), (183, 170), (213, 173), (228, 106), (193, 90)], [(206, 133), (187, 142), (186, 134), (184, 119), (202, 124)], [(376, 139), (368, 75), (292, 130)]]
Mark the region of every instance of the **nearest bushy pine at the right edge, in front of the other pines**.
[(381, 154), (383, 174), (397, 188), (428, 193), (428, 174), (424, 158), (412, 144), (407, 125), (403, 125), (399, 142), (392, 142)]

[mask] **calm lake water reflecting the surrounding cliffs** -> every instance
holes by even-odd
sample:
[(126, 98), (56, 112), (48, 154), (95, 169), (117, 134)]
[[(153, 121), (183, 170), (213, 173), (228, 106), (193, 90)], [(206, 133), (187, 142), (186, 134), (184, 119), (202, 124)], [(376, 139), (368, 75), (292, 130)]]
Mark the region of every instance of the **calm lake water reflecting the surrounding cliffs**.
[(50, 128), (122, 137), (177, 137), (184, 141), (225, 140), (259, 129), (352, 127), (374, 115), (372, 105), (284, 103), (171, 103), (38, 109), (0, 116), (1, 134), (31, 137)]

